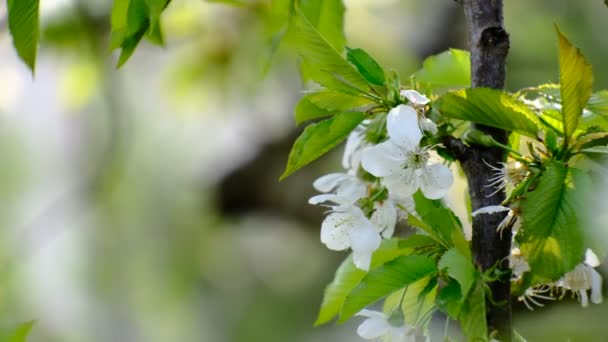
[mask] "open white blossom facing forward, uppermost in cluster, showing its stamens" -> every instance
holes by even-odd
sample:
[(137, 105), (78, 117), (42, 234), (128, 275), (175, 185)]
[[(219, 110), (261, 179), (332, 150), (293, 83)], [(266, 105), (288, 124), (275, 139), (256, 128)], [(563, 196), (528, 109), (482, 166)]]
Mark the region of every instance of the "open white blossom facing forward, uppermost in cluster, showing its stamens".
[(430, 161), (429, 148), (418, 145), (422, 132), (416, 110), (406, 105), (391, 109), (386, 128), (387, 141), (363, 150), (363, 168), (382, 177), (390, 193), (411, 196), (420, 189), (429, 199), (445, 196), (454, 177), (445, 165)]

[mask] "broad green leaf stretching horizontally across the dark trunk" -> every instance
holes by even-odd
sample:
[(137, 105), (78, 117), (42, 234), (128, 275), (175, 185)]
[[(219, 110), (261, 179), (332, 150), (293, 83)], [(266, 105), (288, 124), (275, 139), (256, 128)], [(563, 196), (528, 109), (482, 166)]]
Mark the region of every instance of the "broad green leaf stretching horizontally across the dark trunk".
[(463, 89), (441, 96), (434, 105), (446, 117), (519, 132), (536, 138), (540, 122), (523, 102), (496, 89)]

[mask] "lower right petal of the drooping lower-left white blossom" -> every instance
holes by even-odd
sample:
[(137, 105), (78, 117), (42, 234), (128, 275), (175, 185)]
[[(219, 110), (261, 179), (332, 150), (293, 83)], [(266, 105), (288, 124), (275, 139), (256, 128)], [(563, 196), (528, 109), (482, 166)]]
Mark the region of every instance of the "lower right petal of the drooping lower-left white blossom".
[(353, 250), (353, 262), (357, 268), (369, 270), (372, 254), (380, 247), (380, 234), (366, 219), (365, 224), (357, 224), (349, 230), (350, 248)]

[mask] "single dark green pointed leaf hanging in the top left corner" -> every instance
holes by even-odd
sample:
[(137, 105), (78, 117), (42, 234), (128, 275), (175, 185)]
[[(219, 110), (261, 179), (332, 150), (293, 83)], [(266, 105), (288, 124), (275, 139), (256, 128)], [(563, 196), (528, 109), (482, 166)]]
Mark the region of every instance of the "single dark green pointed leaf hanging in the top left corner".
[(21, 60), (34, 73), (40, 36), (39, 0), (8, 0), (7, 4), (13, 45)]

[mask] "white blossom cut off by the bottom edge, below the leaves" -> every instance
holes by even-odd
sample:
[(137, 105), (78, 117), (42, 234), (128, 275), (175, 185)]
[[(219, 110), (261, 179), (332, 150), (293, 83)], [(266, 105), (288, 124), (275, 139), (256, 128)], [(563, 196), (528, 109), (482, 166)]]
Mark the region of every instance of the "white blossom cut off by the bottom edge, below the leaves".
[(367, 317), (357, 328), (357, 334), (366, 340), (383, 342), (416, 341), (414, 330), (405, 325), (393, 326), (382, 312), (363, 309), (358, 316)]

